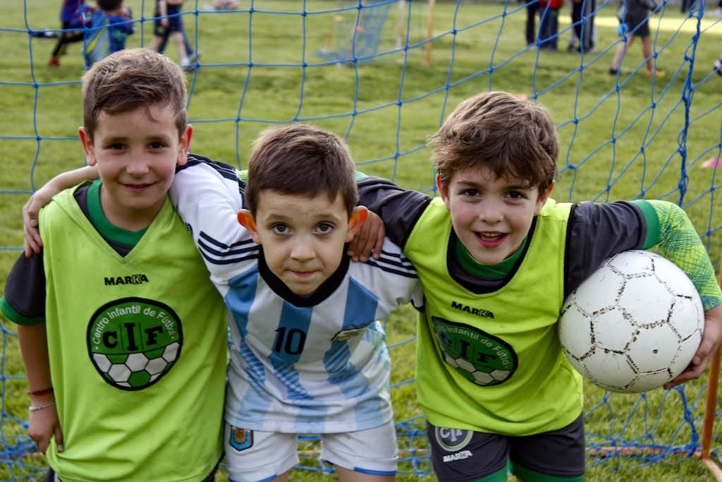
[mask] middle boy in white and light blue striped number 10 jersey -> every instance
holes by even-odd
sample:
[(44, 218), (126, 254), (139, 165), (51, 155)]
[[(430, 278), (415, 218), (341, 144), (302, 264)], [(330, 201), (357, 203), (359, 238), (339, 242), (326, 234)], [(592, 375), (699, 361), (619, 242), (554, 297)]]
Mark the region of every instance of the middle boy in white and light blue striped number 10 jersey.
[(409, 301), (421, 308), (417, 273), (388, 240), (378, 259), (347, 256), (367, 210), (335, 134), (305, 124), (267, 129), (248, 179), (189, 155), (170, 190), (232, 313), (229, 478), (287, 481), (297, 435), (318, 433), (340, 481), (392, 481), (391, 363), (377, 320)]

